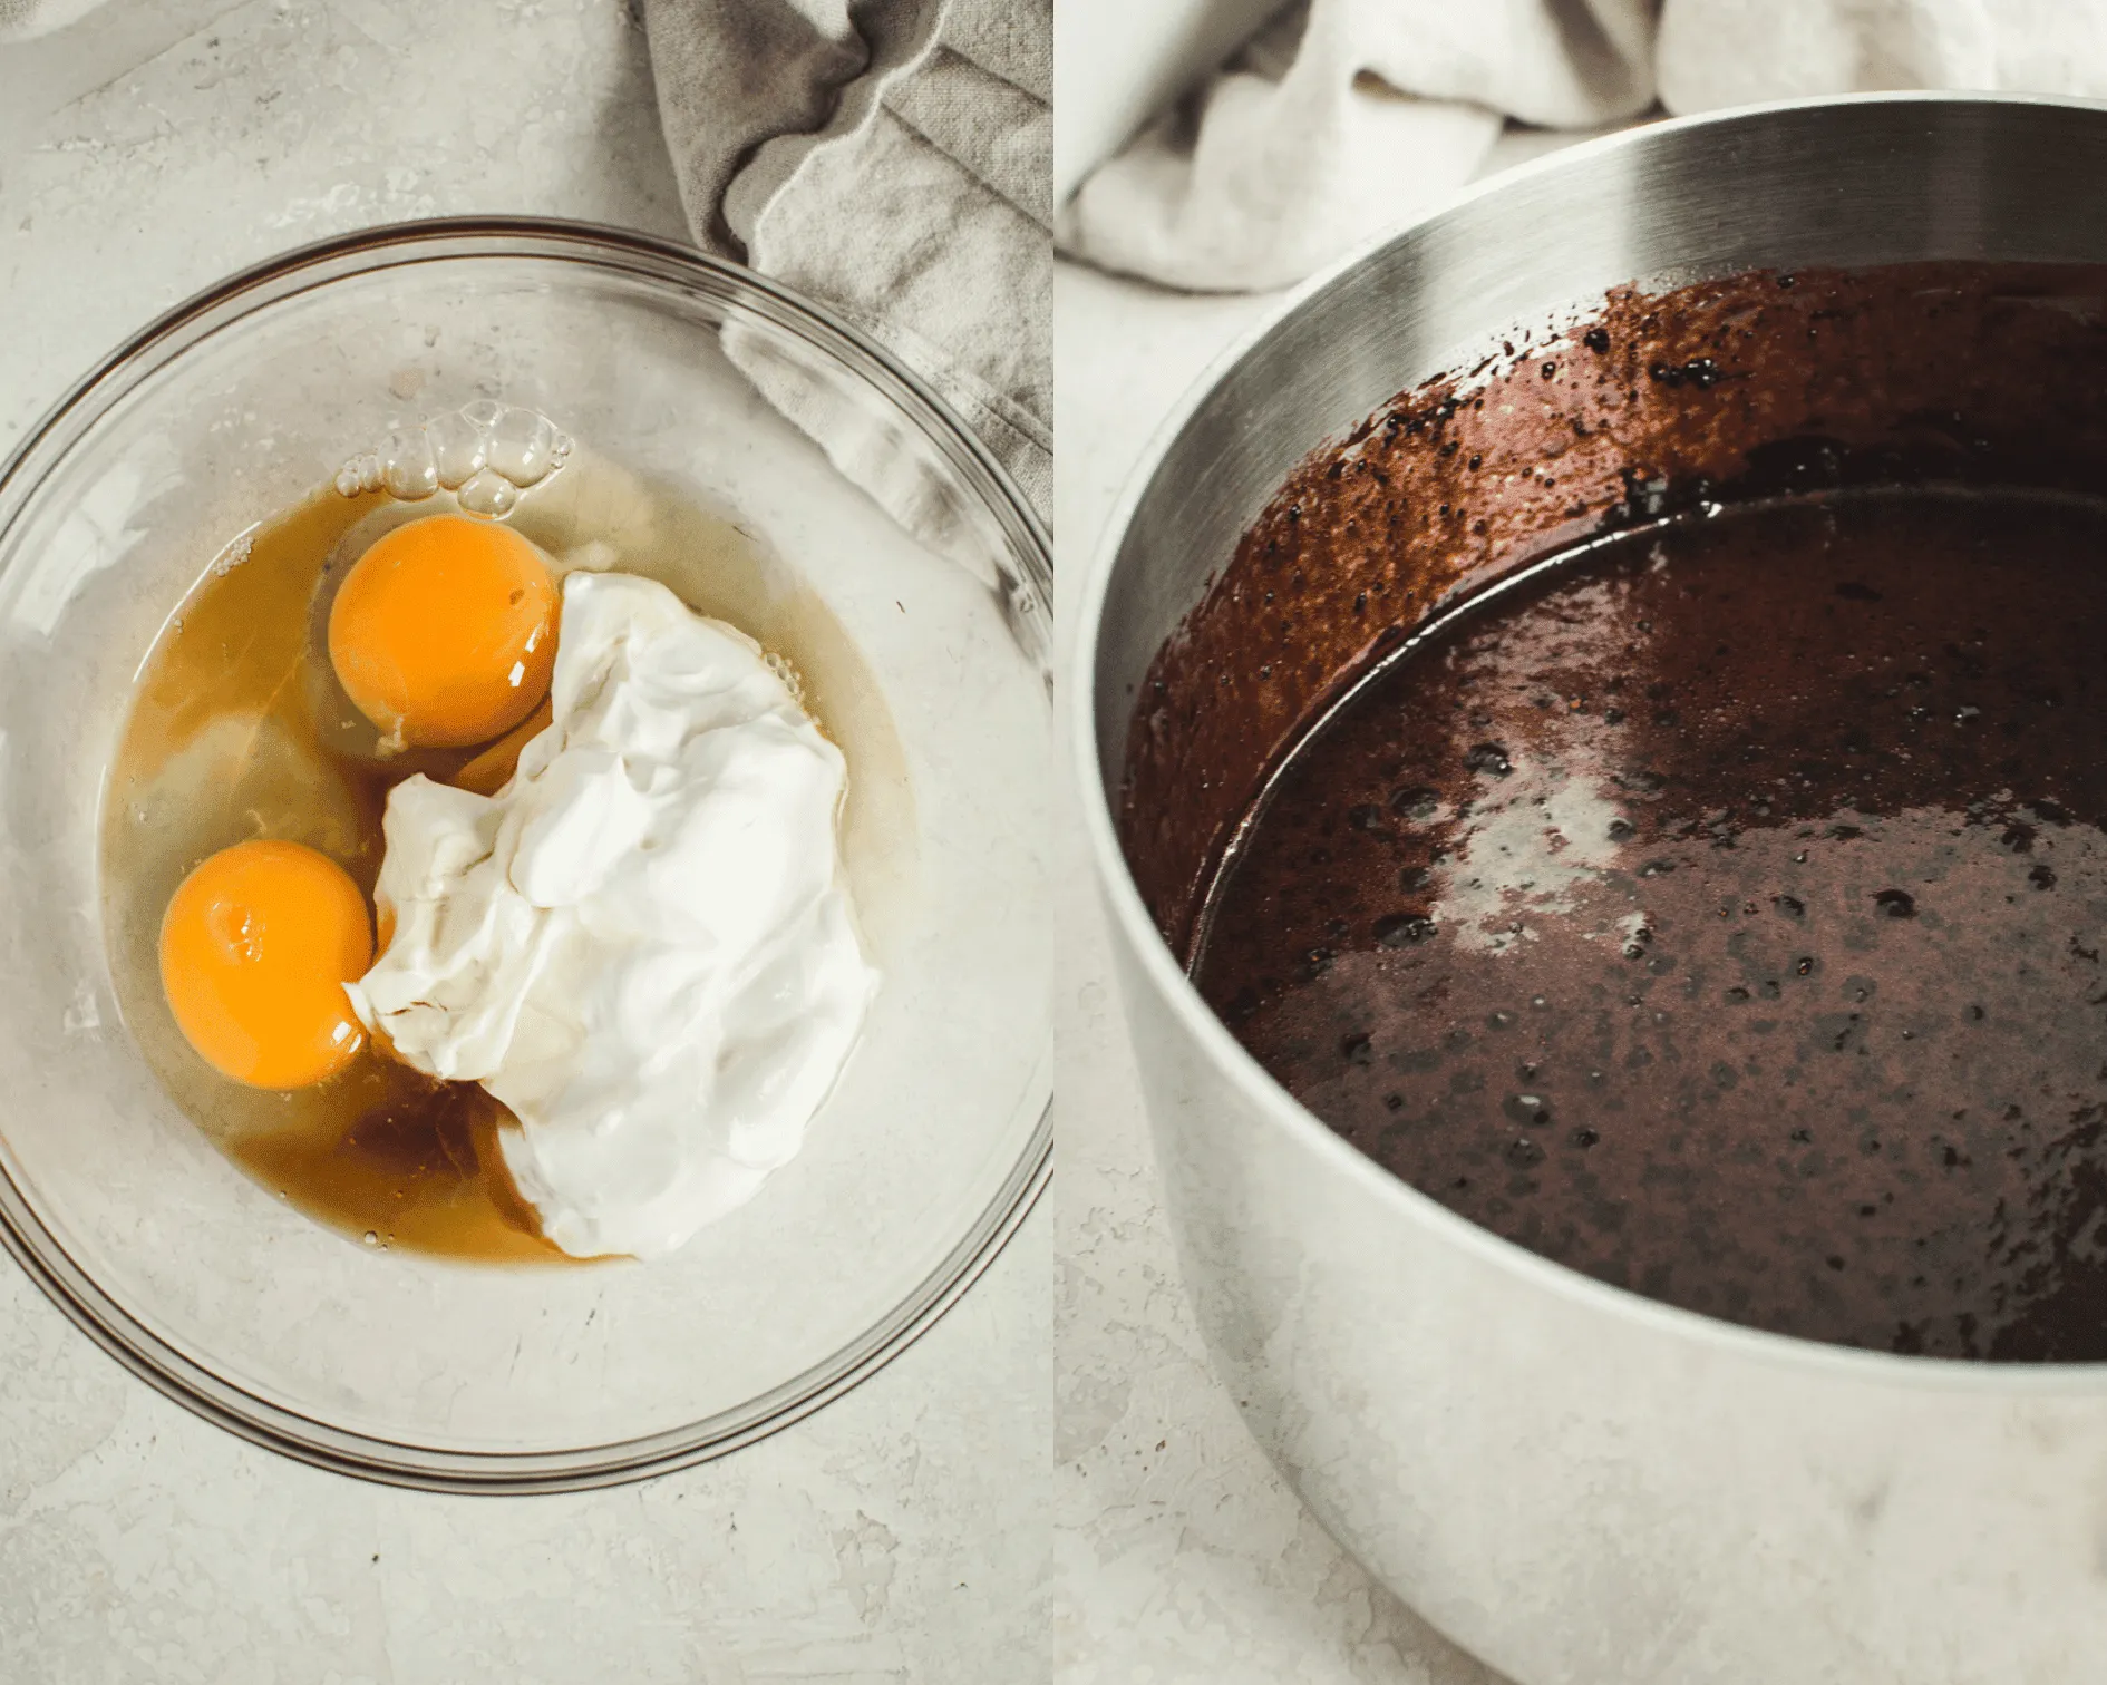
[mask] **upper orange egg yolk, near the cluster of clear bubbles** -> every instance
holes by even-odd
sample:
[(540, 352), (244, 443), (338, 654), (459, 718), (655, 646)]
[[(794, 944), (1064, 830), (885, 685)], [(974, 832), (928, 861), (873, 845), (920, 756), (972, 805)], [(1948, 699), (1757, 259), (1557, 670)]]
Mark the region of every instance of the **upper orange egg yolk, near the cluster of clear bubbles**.
[(556, 581), (541, 552), (495, 520), (413, 520), (343, 575), (329, 661), (396, 748), (485, 744), (548, 695)]

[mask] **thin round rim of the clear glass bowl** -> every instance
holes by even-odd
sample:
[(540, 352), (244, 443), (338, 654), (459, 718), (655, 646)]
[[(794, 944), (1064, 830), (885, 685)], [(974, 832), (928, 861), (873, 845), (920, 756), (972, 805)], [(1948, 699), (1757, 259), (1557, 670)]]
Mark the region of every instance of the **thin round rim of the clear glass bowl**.
[[(350, 276), (476, 257), (537, 259), (645, 280), (729, 312), (759, 316), (843, 364), (944, 455), (1001, 527), (1022, 567), (1022, 594), (1054, 602), (1054, 541), (1003, 465), (952, 409), (891, 352), (782, 282), (649, 234), (554, 217), (434, 217), (383, 223), (295, 246), (240, 270), (145, 324), (74, 383), (0, 459), (0, 539), (42, 480), (139, 383), (257, 310)], [(1013, 630), (1032, 615), (1003, 604)], [(1032, 628), (1041, 636), (1045, 619)], [(1043, 655), (1043, 651), (1037, 651)], [(282, 1409), (215, 1375), (150, 1333), (44, 1228), (0, 1156), (0, 1247), (97, 1346), (152, 1388), (228, 1432), (337, 1474), (457, 1493), (539, 1493), (643, 1481), (765, 1439), (874, 1375), (965, 1295), (1024, 1224), (1051, 1180), (1051, 1106), (995, 1201), (938, 1268), (877, 1325), (824, 1363), (746, 1405), (647, 1439), (556, 1453), (464, 1453), (398, 1445)]]

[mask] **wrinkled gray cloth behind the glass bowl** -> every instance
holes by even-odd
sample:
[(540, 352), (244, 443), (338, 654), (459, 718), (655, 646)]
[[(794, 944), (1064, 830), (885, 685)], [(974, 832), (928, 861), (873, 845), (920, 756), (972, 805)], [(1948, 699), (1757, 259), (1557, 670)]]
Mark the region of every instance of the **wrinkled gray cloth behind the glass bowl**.
[[(1051, 0), (645, 0), (695, 240), (832, 305), (1054, 495)], [(902, 524), (944, 489), (754, 335), (731, 356)]]

